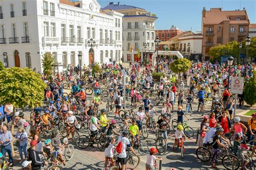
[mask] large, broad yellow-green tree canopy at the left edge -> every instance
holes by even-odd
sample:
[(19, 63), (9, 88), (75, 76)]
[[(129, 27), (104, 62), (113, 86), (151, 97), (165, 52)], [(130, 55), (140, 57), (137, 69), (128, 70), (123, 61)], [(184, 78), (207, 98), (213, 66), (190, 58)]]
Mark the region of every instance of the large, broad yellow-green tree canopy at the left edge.
[(29, 68), (11, 67), (0, 71), (0, 103), (30, 108), (43, 104), (46, 84)]

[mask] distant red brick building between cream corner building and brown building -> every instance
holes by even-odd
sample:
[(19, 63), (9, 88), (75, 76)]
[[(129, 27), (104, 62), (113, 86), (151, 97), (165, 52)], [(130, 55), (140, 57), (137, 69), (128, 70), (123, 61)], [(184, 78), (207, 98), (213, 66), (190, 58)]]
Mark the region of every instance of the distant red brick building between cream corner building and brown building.
[[(183, 33), (176, 26), (172, 25), (170, 30), (156, 30), (156, 36), (159, 37), (161, 41), (169, 41), (172, 37)], [(159, 50), (162, 50), (162, 46), (159, 46)]]

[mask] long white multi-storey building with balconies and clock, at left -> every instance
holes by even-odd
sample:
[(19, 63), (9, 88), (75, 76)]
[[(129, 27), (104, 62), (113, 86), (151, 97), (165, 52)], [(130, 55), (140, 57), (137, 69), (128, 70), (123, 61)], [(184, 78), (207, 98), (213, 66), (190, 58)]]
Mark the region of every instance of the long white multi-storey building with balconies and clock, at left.
[[(122, 13), (102, 11), (97, 0), (0, 0), (0, 60), (5, 66), (42, 72), (50, 52), (59, 70), (69, 64), (119, 61)], [(87, 41), (95, 40), (95, 47)]]

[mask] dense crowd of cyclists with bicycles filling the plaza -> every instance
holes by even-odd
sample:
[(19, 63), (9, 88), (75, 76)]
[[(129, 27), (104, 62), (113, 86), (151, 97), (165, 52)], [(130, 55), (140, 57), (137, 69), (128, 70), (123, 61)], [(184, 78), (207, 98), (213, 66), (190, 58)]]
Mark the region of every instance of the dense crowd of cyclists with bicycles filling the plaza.
[[(22, 151), (20, 153), (20, 163), (24, 169), (65, 166), (65, 160), (72, 159), (74, 152), (68, 143), (75, 143), (79, 148), (95, 147), (97, 144), (100, 151), (105, 151), (105, 169), (118, 166), (125, 169), (126, 164), (136, 168), (139, 155), (145, 154), (148, 154), (146, 169), (155, 169), (156, 160), (162, 159), (155, 155), (165, 155), (171, 143), (172, 151), (180, 147), (181, 157), (184, 157), (184, 140), (194, 136), (188, 121), (195, 112), (203, 117), (203, 122), (198, 124), (197, 157), (203, 161), (210, 157), (212, 168), (217, 168), (217, 160), (228, 155), (223, 160), (225, 167), (228, 167), (226, 161), (229, 160), (233, 162), (232, 165), (239, 162), (239, 166), (245, 169), (249, 161), (241, 152), (244, 149), (242, 144), (251, 141), (250, 157), (253, 157), (256, 114), (248, 121), (248, 128), (240, 123), (239, 117), (232, 117), (234, 96), (227, 89), (227, 82), (230, 81), (227, 65), (192, 62), (187, 72), (173, 74), (166, 67), (170, 62), (164, 59), (159, 63), (159, 72), (171, 75), (160, 77), (159, 80), (152, 76), (156, 67), (139, 65), (137, 62), (130, 63), (130, 68), (120, 63), (105, 63), (100, 66), (100, 73), (92, 71), (93, 63), (83, 67), (82, 77), (74, 72), (72, 66), (60, 75), (43, 76), (42, 79), (48, 84), (44, 107), (34, 108), (28, 120), (24, 119), (24, 114), (16, 115), (19, 123), (14, 122), (21, 129), (17, 132), (16, 140), (19, 143), (27, 140), (27, 157), (24, 152), (26, 160), (22, 157)], [(244, 65), (234, 64), (230, 75), (248, 80), (254, 67), (247, 65), (245, 69)], [(122, 71), (129, 75), (129, 82), (122, 82)], [(244, 94), (239, 95), (238, 99), (241, 107)], [(198, 107), (192, 109), (192, 103)], [(211, 107), (206, 107), (206, 104)], [(10, 127), (10, 108), (11, 104), (8, 103), (0, 110), (2, 126), (7, 128)], [(9, 119), (8, 124), (3, 124), (4, 117)], [(23, 129), (27, 134), (24, 138)], [(156, 135), (155, 147), (149, 148), (146, 144), (149, 134)], [(175, 138), (173, 141), (168, 138), (172, 134)], [(229, 154), (220, 155), (222, 147), (227, 148), (232, 157)], [(131, 157), (129, 151), (136, 157)], [(2, 157), (5, 157), (5, 153)]]

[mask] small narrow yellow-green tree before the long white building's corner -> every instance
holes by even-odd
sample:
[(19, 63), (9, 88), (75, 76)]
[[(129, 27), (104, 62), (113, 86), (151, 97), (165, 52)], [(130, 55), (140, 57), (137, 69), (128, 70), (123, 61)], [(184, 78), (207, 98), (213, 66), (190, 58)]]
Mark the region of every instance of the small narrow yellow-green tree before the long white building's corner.
[(54, 63), (54, 59), (51, 55), (51, 53), (45, 53), (42, 59), (43, 63), (43, 73), (47, 77), (49, 77), (52, 74), (52, 65)]

